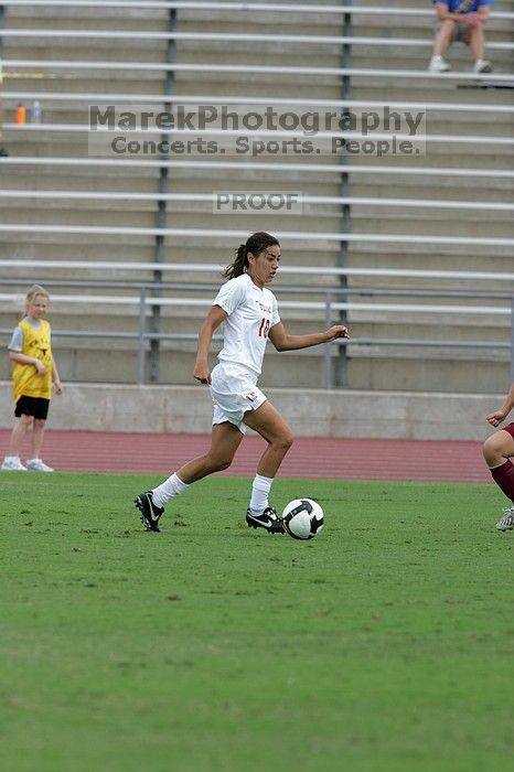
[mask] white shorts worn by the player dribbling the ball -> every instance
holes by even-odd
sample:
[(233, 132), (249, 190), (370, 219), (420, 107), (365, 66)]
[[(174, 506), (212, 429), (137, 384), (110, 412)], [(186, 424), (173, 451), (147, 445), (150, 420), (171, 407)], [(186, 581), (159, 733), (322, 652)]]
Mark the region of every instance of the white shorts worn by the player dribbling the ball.
[(229, 421), (243, 435), (246, 426), (243, 417), (248, 410), (257, 410), (267, 397), (257, 387), (257, 376), (236, 365), (219, 363), (212, 372), (211, 397), (213, 426)]

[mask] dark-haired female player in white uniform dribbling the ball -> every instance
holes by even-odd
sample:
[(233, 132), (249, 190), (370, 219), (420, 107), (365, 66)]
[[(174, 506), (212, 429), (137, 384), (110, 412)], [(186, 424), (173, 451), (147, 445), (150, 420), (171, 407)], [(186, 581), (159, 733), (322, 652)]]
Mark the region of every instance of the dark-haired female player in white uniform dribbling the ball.
[[(325, 332), (289, 335), (278, 314), (277, 300), (265, 287), (274, 280), (280, 261), (280, 244), (268, 233), (253, 234), (236, 250), (225, 270), (228, 279), (214, 299), (199, 334), (193, 376), (211, 388), (213, 428), (211, 448), (188, 461), (153, 490), (140, 493), (135, 504), (147, 530), (159, 530), (164, 505), (189, 485), (207, 474), (227, 469), (250, 427), (268, 443), (251, 486), (246, 513), (248, 526), (269, 533), (283, 533), (276, 511), (268, 504), (271, 483), (292, 444), (291, 429), (257, 386), (266, 343), (277, 351), (307, 349), (349, 337), (346, 328), (336, 324)], [(224, 323), (224, 345), (218, 364), (211, 372), (207, 356), (214, 331)]]

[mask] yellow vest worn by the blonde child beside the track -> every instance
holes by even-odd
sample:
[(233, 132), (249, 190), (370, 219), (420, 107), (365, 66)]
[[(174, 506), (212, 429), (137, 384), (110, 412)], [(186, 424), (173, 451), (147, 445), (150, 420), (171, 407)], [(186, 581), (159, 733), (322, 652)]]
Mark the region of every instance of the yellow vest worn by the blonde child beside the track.
[(50, 324), (41, 320), (41, 330), (34, 330), (24, 319), (20, 322), (23, 330), (22, 354), (40, 360), (46, 367), (46, 375), (40, 375), (34, 365), (23, 365), (14, 362), (12, 371), (14, 401), (20, 397), (52, 397), (52, 349)]

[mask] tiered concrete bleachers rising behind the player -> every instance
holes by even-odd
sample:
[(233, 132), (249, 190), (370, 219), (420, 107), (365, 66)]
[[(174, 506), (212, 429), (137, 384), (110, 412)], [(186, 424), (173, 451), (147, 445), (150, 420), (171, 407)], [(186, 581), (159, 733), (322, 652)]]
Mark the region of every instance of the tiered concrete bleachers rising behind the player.
[[(96, 7), (89, 3), (83, 8), (78, 3), (55, 7), (45, 3), (35, 12), (34, 3), (32, 8), (6, 3), (3, 144), (11, 156), (6, 161), (0, 159), (1, 186), (34, 191), (40, 196), (0, 196), (0, 260), (52, 259), (62, 264), (62, 267), (40, 268), (38, 275), (33, 268), (21, 268), (18, 262), (12, 268), (2, 266), (2, 276), (20, 279), (19, 291), (23, 289), (23, 281), (32, 279), (49, 285), (51, 290), (52, 281), (58, 280), (122, 279), (124, 267), (135, 262), (151, 266), (137, 276), (138, 281), (151, 282), (156, 279), (156, 229), (162, 225), (167, 228), (165, 232), (161, 228), (161, 233), (165, 233), (162, 253), (165, 264), (226, 264), (232, 259), (233, 246), (245, 233), (266, 228), (281, 238), (285, 266), (318, 266), (320, 269), (319, 276), (283, 272), (276, 282), (279, 298), (280, 289), (291, 285), (303, 287), (306, 292), (340, 286), (340, 277), (329, 270), (339, 265), (342, 240), (342, 202), (336, 201), (342, 195), (341, 175), (334, 173), (338, 158), (318, 156), (315, 171), (307, 170), (313, 163), (311, 158), (298, 156), (244, 158), (248, 168), (236, 165), (237, 159), (231, 156), (223, 159), (224, 165), (219, 165), (219, 157), (195, 157), (196, 162), (204, 162), (196, 167), (170, 164), (167, 190), (176, 196), (200, 197), (221, 190), (287, 190), (300, 191), (309, 200), (301, 215), (269, 217), (215, 214), (208, 200), (168, 201), (163, 222), (158, 218), (159, 200), (162, 202), (164, 196), (159, 195), (161, 164), (157, 161), (103, 165), (101, 159), (90, 159), (90, 163), (78, 163), (88, 159), (84, 127), (87, 105), (93, 99), (84, 95), (94, 98), (116, 95), (117, 103), (121, 96), (127, 103), (138, 103), (136, 96), (150, 99), (156, 95), (156, 105), (161, 107), (171, 98), (178, 104), (182, 104), (182, 99), (185, 103), (186, 98), (197, 98), (205, 104), (223, 104), (223, 100), (231, 104), (232, 97), (239, 100), (239, 106), (235, 103), (235, 109), (239, 110), (244, 105), (251, 106), (251, 99), (269, 101), (283, 110), (295, 109), (288, 99), (303, 99), (306, 109), (322, 105), (323, 110), (341, 101), (341, 42), (326, 39), (343, 37), (342, 13), (323, 13), (323, 3), (318, 4), (318, 13), (302, 12), (301, 6), (286, 11), (287, 3), (281, 3), (283, 8), (278, 10), (269, 3), (266, 11), (251, 9), (251, 3), (239, 4), (239, 9), (231, 11), (218, 10), (214, 8), (216, 4), (208, 8), (203, 3), (200, 10), (194, 8), (195, 3), (171, 3), (179, 8), (173, 26), (178, 36), (172, 52), (178, 68), (172, 71), (170, 81), (169, 71), (164, 68), (169, 55), (164, 33), (170, 31), (165, 3), (135, 3), (129, 10), (116, 3)], [(416, 159), (390, 156), (376, 159), (363, 154), (349, 159), (345, 205), (351, 212), (353, 238), (347, 239), (347, 266), (504, 274), (512, 265), (514, 245), (512, 208), (505, 206), (514, 204), (514, 174), (510, 173), (514, 172), (514, 107), (512, 90), (506, 88), (514, 78), (513, 3), (496, 2), (496, 18), (488, 24), (488, 42), (493, 46), (489, 56), (495, 65), (494, 75), (488, 77), (470, 76), (469, 53), (459, 46), (454, 46), (449, 56), (454, 72), (449, 76), (429, 75), (426, 68), (430, 55), (431, 15), (418, 12), (419, 7), (414, 3), (408, 7), (411, 13), (403, 15), (400, 7), (407, 3), (398, 3), (394, 13), (367, 12), (374, 4), (362, 2), (361, 13), (355, 8), (349, 11), (351, 34), (355, 41), (361, 40), (351, 46), (350, 106), (358, 105), (362, 109), (366, 104), (390, 104), (413, 109), (414, 105), (428, 105), (428, 141), (426, 154)], [(9, 33), (10, 30), (39, 29), (43, 32), (36, 40), (29, 34), (17, 37)], [(52, 34), (45, 39), (44, 29), (62, 31), (62, 35)], [(103, 34), (85, 37), (88, 30)], [(128, 33), (131, 36), (121, 36)], [(200, 40), (200, 34), (210, 34), (211, 39)], [(289, 39), (282, 43), (259, 40), (251, 45), (247, 40), (231, 40), (227, 45), (226, 40), (216, 39), (216, 35), (244, 34), (288, 35)], [(315, 42), (291, 40), (300, 35), (315, 36)], [(370, 37), (381, 42), (372, 44)], [(393, 39), (425, 40), (425, 44), (390, 45)], [(69, 66), (57, 66), (56, 63), (63, 61), (68, 61)], [(21, 64), (23, 62), (34, 62), (34, 65), (26, 66)], [(99, 66), (101, 62), (106, 65)], [(120, 63), (131, 63), (131, 66), (121, 68)], [(216, 71), (213, 65), (229, 65), (231, 68)], [(202, 66), (202, 69), (188, 69), (192, 66)], [(245, 67), (255, 69), (245, 72)], [(266, 71), (267, 67), (281, 68), (281, 72)], [(302, 67), (309, 72), (301, 72)], [(320, 68), (324, 71), (315, 72)], [(488, 85), (491, 83), (501, 87)], [(42, 125), (14, 126), (15, 103), (22, 99), (29, 107), (34, 98), (42, 105)], [(338, 107), (341, 109), (341, 105)], [(31, 158), (35, 158), (36, 163), (31, 163)], [(60, 164), (52, 159), (67, 162)], [(229, 168), (231, 163), (235, 165)], [(52, 200), (43, 195), (45, 191), (77, 195)], [(87, 193), (87, 197), (81, 197), (81, 192)], [(105, 197), (90, 197), (95, 192)], [(109, 193), (125, 197), (109, 197)], [(129, 199), (127, 193), (142, 195), (139, 200)], [(481, 202), (497, 206), (478, 208), (476, 203)], [(454, 208), (456, 205), (459, 207)], [(2, 229), (2, 225), (11, 229)], [(76, 226), (77, 232), (67, 232), (69, 226)], [(109, 233), (109, 228), (117, 228), (117, 232)], [(320, 238), (312, 238), (317, 233), (321, 234)], [(282, 238), (281, 234), (290, 235)], [(325, 238), (325, 235), (336, 238)], [(107, 259), (119, 262), (119, 271), (109, 269), (106, 272), (96, 267)], [(82, 260), (87, 267), (66, 267), (69, 260)], [(202, 276), (199, 271), (184, 270), (181, 280), (214, 287), (218, 276), (213, 271)], [(497, 282), (489, 281), (486, 288), (475, 286), (471, 279), (463, 282), (462, 278), (426, 278), (420, 285), (408, 276), (393, 279), (379, 274), (353, 275), (347, 283), (352, 290), (386, 291), (409, 288), (414, 291), (421, 286), (435, 294), (441, 289), (458, 291), (462, 288), (514, 291), (511, 282), (505, 287), (504, 279), (500, 278)], [(111, 291), (97, 289), (99, 297), (101, 293), (109, 296)], [(120, 294), (124, 292), (130, 290), (119, 290)], [(381, 298), (375, 297), (374, 302), (379, 301)], [(418, 302), (427, 303), (429, 299)], [(446, 302), (450, 304), (452, 299)], [(494, 302), (500, 301), (488, 300), (484, 304)], [(163, 307), (159, 323), (164, 332), (192, 334), (202, 314), (200, 305), (188, 308), (186, 313), (180, 305)], [(83, 309), (55, 303), (52, 319), (55, 328), (71, 330), (76, 324), (82, 330), (87, 325), (97, 331), (135, 330), (135, 321), (138, 321), (135, 313), (127, 313), (124, 304), (109, 307), (100, 300), (85, 303)], [(300, 309), (290, 308), (283, 319), (295, 332), (324, 324), (322, 310), (306, 321)], [(506, 350), (496, 349), (484, 355), (483, 350), (467, 347), (470, 340), (510, 341), (508, 315), (491, 313), (473, 319), (470, 313), (448, 313), (441, 319), (416, 310), (398, 314), (362, 308), (350, 310), (347, 320), (356, 341), (374, 337), (463, 341), (462, 350), (385, 343), (350, 345), (344, 384), (349, 388), (424, 390), (443, 387), (453, 392), (488, 392), (510, 377)], [(4, 309), (0, 314), (0, 328), (8, 329), (14, 322), (12, 307)], [(69, 341), (63, 343), (63, 346), (60, 343), (60, 362), (67, 379), (101, 380), (107, 356), (109, 372), (117, 379), (130, 382), (133, 378), (137, 353), (130, 341), (81, 339), (73, 346)], [(194, 342), (162, 341), (161, 350), (165, 355), (161, 356), (160, 383), (188, 384)], [(480, 365), (478, 356), (483, 360)], [(321, 351), (306, 352), (295, 357), (291, 373), (291, 357), (271, 354), (263, 383), (286, 386), (292, 375), (298, 385), (319, 386), (321, 361)], [(0, 364), (0, 376), (8, 377), (7, 363)]]

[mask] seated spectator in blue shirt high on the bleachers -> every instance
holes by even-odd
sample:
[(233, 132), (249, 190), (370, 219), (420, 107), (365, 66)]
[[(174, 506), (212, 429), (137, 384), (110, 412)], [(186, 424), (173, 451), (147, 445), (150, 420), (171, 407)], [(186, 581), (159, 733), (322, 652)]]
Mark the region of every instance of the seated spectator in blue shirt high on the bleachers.
[(428, 69), (447, 73), (450, 65), (443, 54), (451, 43), (465, 43), (474, 60), (474, 73), (492, 73), (491, 62), (484, 60), (484, 32), (494, 0), (433, 0), (437, 22), (433, 54)]

